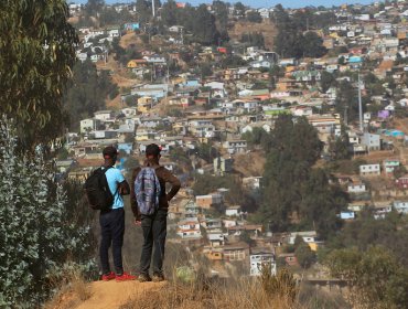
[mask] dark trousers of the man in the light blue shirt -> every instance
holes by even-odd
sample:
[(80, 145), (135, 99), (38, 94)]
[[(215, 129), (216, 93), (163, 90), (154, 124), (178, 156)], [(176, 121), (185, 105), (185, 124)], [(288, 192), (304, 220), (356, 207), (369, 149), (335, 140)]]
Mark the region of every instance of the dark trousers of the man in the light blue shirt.
[(117, 209), (107, 212), (100, 212), (99, 216), (101, 239), (99, 246), (100, 264), (104, 274), (110, 273), (109, 247), (112, 246), (112, 256), (115, 273), (124, 274), (121, 247), (125, 235), (125, 210)]

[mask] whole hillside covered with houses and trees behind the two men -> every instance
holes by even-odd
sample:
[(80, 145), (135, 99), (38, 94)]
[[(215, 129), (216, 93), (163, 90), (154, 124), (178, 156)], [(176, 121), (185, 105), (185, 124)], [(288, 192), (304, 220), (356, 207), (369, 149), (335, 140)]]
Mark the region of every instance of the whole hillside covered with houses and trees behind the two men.
[(408, 267), (406, 1), (94, 2), (69, 4), (80, 88), (67, 90), (62, 179), (84, 181), (107, 145), (129, 177), (154, 142), (183, 182), (170, 242), (214, 276), (270, 263), (339, 286), (324, 258), (367, 242)]

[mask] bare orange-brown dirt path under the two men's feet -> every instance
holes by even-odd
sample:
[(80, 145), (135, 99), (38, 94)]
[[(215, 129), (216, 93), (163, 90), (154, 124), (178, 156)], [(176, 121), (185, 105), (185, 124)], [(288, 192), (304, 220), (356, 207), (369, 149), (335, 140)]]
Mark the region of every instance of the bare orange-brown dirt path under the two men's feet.
[(89, 289), (87, 299), (80, 300), (80, 292), (71, 291), (61, 297), (54, 309), (119, 309), (130, 300), (137, 302), (138, 297), (148, 291), (158, 290), (164, 283), (139, 281), (95, 281), (85, 286)]

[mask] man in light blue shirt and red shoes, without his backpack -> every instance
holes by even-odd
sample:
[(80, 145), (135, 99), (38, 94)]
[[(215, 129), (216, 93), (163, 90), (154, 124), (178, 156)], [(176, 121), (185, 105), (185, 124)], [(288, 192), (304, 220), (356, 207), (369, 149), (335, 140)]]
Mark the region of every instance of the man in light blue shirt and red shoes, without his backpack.
[[(108, 181), (108, 185), (111, 194), (114, 195), (114, 203), (111, 209), (108, 211), (100, 211), (99, 223), (100, 223), (100, 247), (99, 256), (103, 268), (103, 280), (108, 281), (116, 279), (117, 281), (133, 280), (135, 276), (124, 271), (121, 247), (124, 245), (125, 235), (125, 209), (124, 198), (121, 195), (129, 194), (129, 184), (121, 174), (121, 172), (115, 168), (116, 160), (118, 158), (118, 151), (115, 147), (106, 147), (103, 151), (105, 169), (108, 169), (105, 173)], [(110, 271), (109, 266), (109, 247), (112, 246), (112, 256), (115, 264), (115, 273)]]

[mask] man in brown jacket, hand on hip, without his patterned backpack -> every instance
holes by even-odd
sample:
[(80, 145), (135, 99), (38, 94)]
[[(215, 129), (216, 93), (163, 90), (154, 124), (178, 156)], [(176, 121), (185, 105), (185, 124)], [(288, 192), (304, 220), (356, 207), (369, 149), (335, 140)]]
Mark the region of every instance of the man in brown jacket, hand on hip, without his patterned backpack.
[[(169, 211), (169, 201), (179, 192), (181, 183), (169, 170), (159, 164), (160, 147), (151, 143), (146, 148), (144, 166), (154, 168), (155, 174), (160, 182), (161, 193), (159, 196), (159, 209), (152, 215), (140, 214), (135, 194), (135, 180), (141, 168), (137, 168), (132, 174), (132, 185), (130, 191), (130, 200), (135, 215), (135, 223), (141, 224), (143, 231), (143, 247), (140, 257), (140, 275), (139, 281), (151, 281), (149, 276), (150, 262), (153, 253), (153, 281), (164, 280), (163, 276), (163, 259), (164, 259), (164, 243), (167, 236), (167, 217)], [(165, 192), (165, 183), (171, 184), (169, 193)]]

